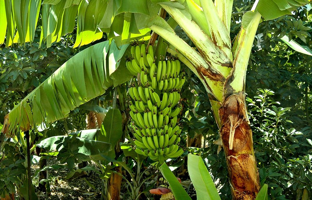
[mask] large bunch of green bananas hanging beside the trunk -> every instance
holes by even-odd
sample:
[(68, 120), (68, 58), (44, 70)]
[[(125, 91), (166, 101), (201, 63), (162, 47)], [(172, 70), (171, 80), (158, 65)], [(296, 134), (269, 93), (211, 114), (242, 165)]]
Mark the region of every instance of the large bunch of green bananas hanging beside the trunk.
[(135, 76), (128, 90), (135, 151), (160, 162), (181, 156), (177, 116), (185, 76), (180, 74), (180, 61), (163, 59), (156, 66), (152, 46), (146, 53), (144, 44), (132, 46), (131, 54), (126, 67)]

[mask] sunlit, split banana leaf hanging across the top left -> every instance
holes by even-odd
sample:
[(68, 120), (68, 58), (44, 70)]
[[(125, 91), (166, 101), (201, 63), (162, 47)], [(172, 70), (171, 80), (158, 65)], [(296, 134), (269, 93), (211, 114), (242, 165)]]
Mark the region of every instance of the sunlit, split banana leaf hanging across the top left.
[[(116, 43), (149, 39), (150, 29), (136, 22), (136, 16), (148, 16), (149, 1), (121, 0), (2, 0), (0, 1), (0, 44), (32, 42), (41, 8), (41, 41), (47, 47), (71, 33), (77, 23), (75, 46), (89, 44), (102, 38), (103, 32), (114, 37)], [(127, 12), (127, 13), (125, 13)], [(132, 13), (132, 14), (131, 14)], [(78, 19), (76, 22), (76, 18)]]

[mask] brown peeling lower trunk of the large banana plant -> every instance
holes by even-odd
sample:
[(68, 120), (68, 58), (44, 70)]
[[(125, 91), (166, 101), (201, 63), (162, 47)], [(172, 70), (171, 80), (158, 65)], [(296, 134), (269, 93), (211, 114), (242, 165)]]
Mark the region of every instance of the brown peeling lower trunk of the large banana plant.
[(244, 92), (227, 97), (219, 116), (233, 199), (255, 199), (260, 181)]

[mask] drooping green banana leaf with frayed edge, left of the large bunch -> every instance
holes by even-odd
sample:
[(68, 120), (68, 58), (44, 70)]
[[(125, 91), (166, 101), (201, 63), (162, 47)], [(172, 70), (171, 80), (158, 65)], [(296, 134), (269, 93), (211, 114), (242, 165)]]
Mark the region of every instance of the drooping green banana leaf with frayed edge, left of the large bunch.
[[(119, 50), (114, 41), (110, 45), (105, 41), (77, 53), (6, 115), (2, 132), (14, 135), (18, 128), (25, 131), (42, 122), (63, 119), (115, 82), (129, 80), (132, 76), (127, 69), (117, 70), (120, 63), (124, 64), (121, 58), (127, 47)], [(119, 74), (115, 79), (110, 78), (113, 72)]]

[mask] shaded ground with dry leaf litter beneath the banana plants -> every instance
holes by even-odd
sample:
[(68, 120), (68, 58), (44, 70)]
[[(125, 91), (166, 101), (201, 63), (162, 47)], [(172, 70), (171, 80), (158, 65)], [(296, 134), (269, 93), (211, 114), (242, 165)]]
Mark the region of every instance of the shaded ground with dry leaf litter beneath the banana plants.
[[(59, 161), (56, 159), (47, 160), (47, 166), (49, 165), (60, 165)], [(77, 168), (77, 166), (76, 166)], [(36, 170), (39, 169), (39, 164), (32, 165), (32, 174), (35, 173)], [(50, 190), (51, 194), (49, 196), (46, 193), (40, 192), (38, 189), (38, 176), (32, 180), (33, 185), (36, 187), (36, 193), (39, 200), (51, 199), (51, 200), (66, 200), (66, 199), (75, 199), (75, 200), (93, 200), (101, 198), (101, 187), (102, 180), (99, 178), (99, 174), (94, 171), (88, 171), (88, 173), (82, 174), (72, 179), (66, 179), (66, 175), (71, 172), (66, 165), (64, 168), (53, 170), (48, 170), (48, 179), (50, 180)], [(126, 174), (124, 174), (126, 175)], [(183, 175), (182, 175), (183, 176)], [(181, 177), (182, 178), (182, 177)], [(154, 178), (154, 181), (157, 177)], [(182, 178), (183, 179), (183, 178)], [(94, 188), (91, 188), (86, 181), (90, 182)], [(149, 181), (153, 181), (150, 179)], [(146, 182), (144, 185), (147, 187), (150, 183)], [(187, 192), (192, 197), (195, 194), (194, 188), (190, 187), (190, 180), (184, 179), (182, 185), (185, 187)], [(129, 185), (125, 181), (122, 182), (120, 199), (124, 200), (132, 200), (130, 198), (130, 188)], [(145, 196), (147, 195), (147, 197)], [(152, 200), (154, 196), (149, 192), (142, 195), (140, 200)], [(155, 199), (159, 199), (160, 195), (157, 195)], [(19, 200), (18, 194), (15, 195), (15, 199)], [(192, 197), (192, 199), (196, 199)]]

